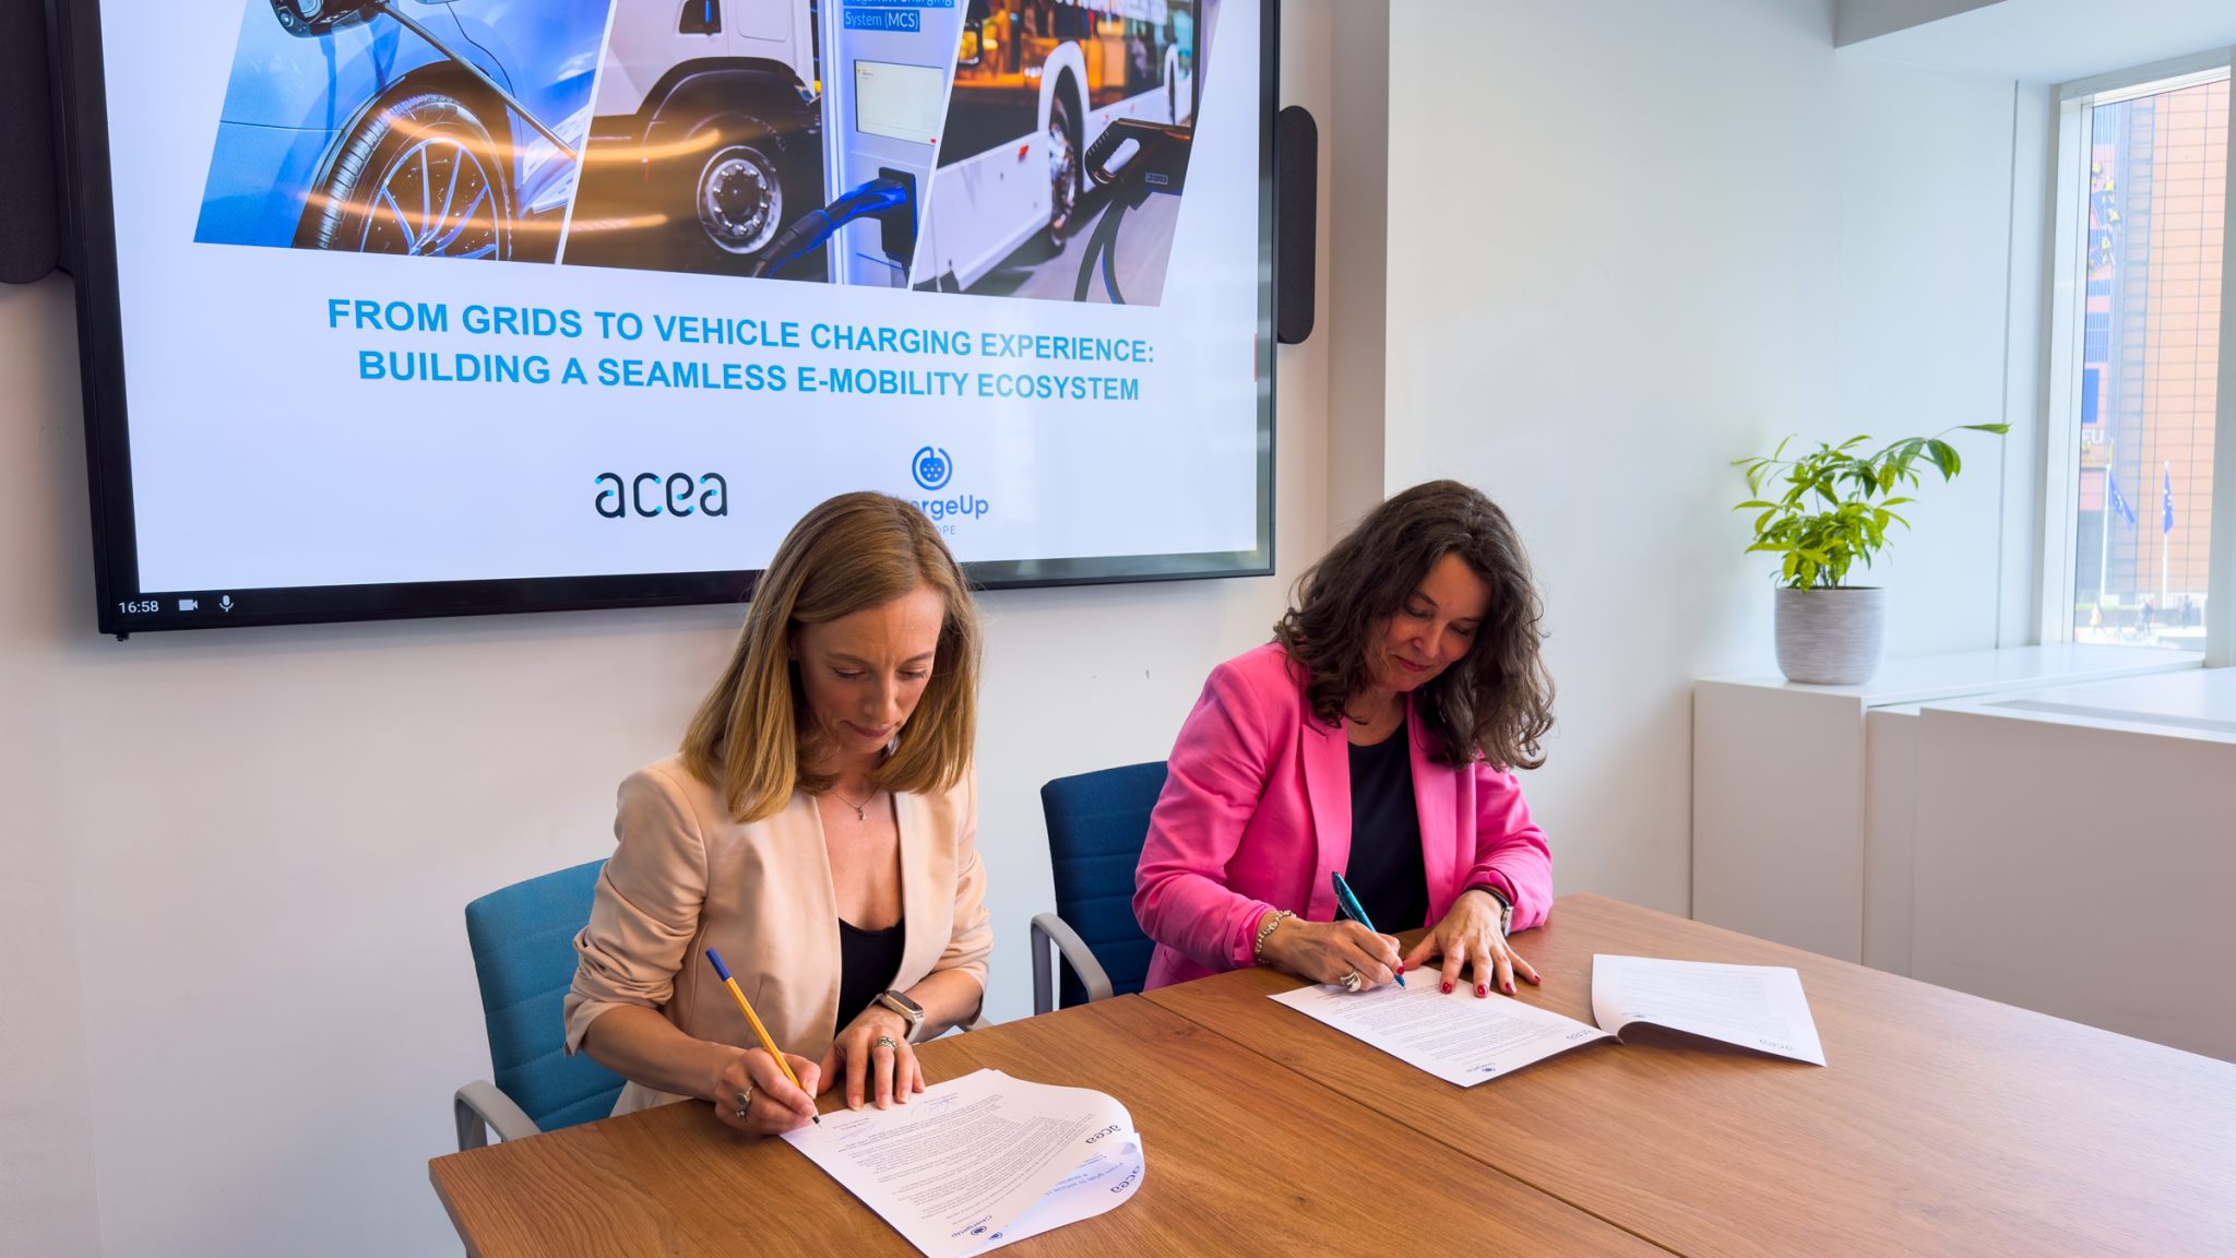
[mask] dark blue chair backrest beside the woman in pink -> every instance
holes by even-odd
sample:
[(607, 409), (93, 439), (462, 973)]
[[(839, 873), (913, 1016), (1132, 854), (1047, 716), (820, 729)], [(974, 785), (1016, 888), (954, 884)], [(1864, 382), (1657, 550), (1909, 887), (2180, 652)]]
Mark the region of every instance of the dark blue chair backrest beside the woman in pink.
[[(1149, 813), (1165, 790), (1165, 761), (1058, 777), (1040, 788), (1055, 869), (1055, 913), (1102, 963), (1111, 992), (1140, 992), (1149, 974), (1149, 936), (1134, 918), (1134, 869), (1149, 837)], [(1058, 971), (1058, 1007), (1084, 1005), (1087, 989), (1069, 965)]]

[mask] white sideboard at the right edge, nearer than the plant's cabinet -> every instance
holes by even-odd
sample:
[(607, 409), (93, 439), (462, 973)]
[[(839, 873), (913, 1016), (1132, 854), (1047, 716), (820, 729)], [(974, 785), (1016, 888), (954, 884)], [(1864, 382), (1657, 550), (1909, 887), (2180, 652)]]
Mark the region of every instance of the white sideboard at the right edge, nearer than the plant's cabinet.
[(2236, 669), (1916, 719), (1925, 983), (2236, 1061)]

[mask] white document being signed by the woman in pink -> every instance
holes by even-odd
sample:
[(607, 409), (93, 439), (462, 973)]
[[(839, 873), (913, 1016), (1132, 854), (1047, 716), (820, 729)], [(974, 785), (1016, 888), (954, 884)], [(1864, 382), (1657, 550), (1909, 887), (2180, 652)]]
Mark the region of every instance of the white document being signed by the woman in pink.
[(1337, 985), (1299, 987), (1275, 1001), (1462, 1088), (1594, 1039), (1614, 1039), (1552, 1010), (1507, 996), (1476, 996), (1471, 989), (1447, 994), (1436, 983), (1386, 985), (1359, 994)]

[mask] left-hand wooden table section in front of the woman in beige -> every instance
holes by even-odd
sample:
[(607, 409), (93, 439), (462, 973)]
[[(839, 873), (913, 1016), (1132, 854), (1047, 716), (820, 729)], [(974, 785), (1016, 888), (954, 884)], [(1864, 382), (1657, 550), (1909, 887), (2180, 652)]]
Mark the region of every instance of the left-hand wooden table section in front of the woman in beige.
[[(1149, 1173), (1131, 1202), (1002, 1254), (1659, 1251), (1460, 1157), (1140, 996), (923, 1045), (939, 1079), (997, 1068), (1131, 1110)], [(825, 1106), (830, 1108), (830, 1106)], [(915, 1254), (783, 1142), (678, 1104), (429, 1166), (467, 1254)]]

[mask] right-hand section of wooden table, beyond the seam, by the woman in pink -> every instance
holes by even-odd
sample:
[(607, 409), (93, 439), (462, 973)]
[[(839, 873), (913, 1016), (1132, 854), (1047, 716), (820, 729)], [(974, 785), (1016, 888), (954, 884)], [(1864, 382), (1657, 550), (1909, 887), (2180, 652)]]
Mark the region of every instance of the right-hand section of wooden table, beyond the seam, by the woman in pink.
[(1520, 998), (1581, 1021), (1594, 951), (1791, 965), (1829, 1065), (1648, 1032), (1456, 1088), (1275, 1005), (1272, 971), (1147, 998), (1688, 1258), (2236, 1254), (2236, 1065), (1597, 895), (1514, 942), (1545, 976)]

